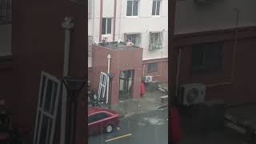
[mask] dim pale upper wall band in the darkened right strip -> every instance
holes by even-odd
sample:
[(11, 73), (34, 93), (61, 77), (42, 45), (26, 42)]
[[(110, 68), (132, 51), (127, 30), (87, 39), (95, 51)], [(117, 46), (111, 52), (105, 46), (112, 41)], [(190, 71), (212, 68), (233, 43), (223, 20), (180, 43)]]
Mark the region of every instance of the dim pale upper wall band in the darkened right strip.
[(234, 28), (240, 10), (238, 26), (256, 25), (255, 0), (212, 0), (210, 5), (198, 6), (194, 0), (177, 1), (175, 34)]

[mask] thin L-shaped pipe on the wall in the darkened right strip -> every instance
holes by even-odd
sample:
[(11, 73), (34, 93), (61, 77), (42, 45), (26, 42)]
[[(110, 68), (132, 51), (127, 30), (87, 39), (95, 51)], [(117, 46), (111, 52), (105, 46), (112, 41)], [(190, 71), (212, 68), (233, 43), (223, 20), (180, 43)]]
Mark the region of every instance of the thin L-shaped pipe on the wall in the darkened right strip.
[(237, 54), (237, 43), (238, 43), (238, 22), (239, 22), (239, 14), (240, 10), (237, 8), (234, 8), (234, 11), (237, 14), (237, 19), (236, 19), (236, 26), (234, 30), (234, 50), (233, 50), (233, 58), (232, 58), (232, 70), (231, 70), (231, 78), (230, 82), (222, 82), (222, 83), (216, 83), (216, 84), (210, 84), (206, 85), (207, 87), (213, 87), (213, 86), (223, 86), (223, 85), (231, 85), (234, 82), (234, 74), (235, 74), (235, 66), (236, 66), (236, 54)]

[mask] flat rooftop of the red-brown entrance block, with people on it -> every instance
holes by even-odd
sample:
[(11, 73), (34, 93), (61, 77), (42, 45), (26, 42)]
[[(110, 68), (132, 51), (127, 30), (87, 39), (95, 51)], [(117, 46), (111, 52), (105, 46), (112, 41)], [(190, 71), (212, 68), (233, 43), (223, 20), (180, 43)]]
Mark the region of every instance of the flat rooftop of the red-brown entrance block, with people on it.
[(125, 42), (105, 42), (105, 43), (98, 43), (98, 45), (102, 47), (106, 47), (110, 50), (137, 50), (140, 47), (138, 46), (126, 46)]

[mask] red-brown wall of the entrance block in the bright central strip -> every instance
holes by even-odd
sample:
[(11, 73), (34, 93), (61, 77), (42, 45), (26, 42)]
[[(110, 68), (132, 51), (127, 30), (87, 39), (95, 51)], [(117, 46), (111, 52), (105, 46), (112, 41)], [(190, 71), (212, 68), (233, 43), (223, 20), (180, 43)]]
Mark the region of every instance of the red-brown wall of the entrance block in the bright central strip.
[[(142, 49), (138, 50), (109, 50), (102, 46), (94, 46), (93, 68), (90, 70), (89, 79), (98, 90), (101, 72), (107, 73), (107, 55), (111, 55), (110, 73), (115, 74), (112, 81), (111, 104), (119, 102), (119, 74), (122, 70), (134, 70), (134, 86), (132, 98), (140, 97), (140, 84), (142, 79)], [(132, 59), (130, 59), (133, 57)]]

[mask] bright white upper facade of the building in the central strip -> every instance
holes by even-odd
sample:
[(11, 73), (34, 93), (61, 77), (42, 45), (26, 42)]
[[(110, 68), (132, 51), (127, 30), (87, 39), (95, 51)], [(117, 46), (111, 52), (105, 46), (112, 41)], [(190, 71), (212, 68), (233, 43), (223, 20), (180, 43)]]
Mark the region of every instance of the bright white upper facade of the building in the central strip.
[[(88, 34), (94, 36), (94, 41), (99, 41), (100, 30), (100, 0), (93, 0), (94, 18), (89, 20)], [(124, 40), (125, 33), (141, 33), (143, 60), (154, 58), (168, 57), (168, 0), (162, 0), (160, 8), (160, 16), (151, 15), (153, 0), (140, 0), (138, 8), (138, 17), (126, 17), (127, 0), (117, 0), (117, 14), (115, 26), (115, 41), (118, 39)], [(103, 18), (114, 17), (114, 0), (103, 0)], [(94, 24), (93, 24), (94, 23)], [(107, 37), (108, 41), (113, 41), (114, 21), (112, 21), (112, 34), (102, 35), (102, 38)], [(149, 34), (150, 32), (163, 32), (163, 49), (149, 51)], [(89, 59), (88, 59), (89, 60)]]

